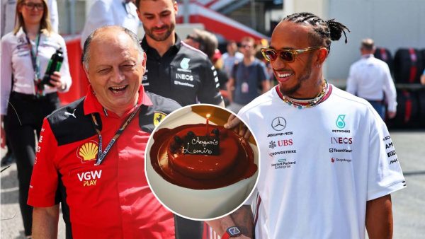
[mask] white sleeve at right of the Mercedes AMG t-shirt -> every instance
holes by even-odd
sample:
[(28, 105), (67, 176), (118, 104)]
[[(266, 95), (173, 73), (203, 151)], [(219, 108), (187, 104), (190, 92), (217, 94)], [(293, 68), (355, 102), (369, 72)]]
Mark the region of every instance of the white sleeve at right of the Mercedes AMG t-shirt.
[(406, 187), (390, 133), (371, 106), (369, 112), (372, 122), (369, 140), (368, 201)]

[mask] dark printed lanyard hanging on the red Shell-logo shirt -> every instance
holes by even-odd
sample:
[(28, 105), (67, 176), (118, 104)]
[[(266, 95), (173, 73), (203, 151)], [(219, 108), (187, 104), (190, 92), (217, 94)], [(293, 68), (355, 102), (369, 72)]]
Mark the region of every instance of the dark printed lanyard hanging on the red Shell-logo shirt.
[(94, 113), (91, 114), (91, 122), (93, 122), (94, 125), (94, 129), (96, 130), (96, 133), (98, 135), (98, 139), (99, 139), (99, 144), (98, 144), (98, 158), (97, 161), (94, 165), (101, 165), (103, 159), (106, 157), (106, 155), (108, 154), (109, 150), (112, 148), (113, 144), (115, 143), (115, 141), (118, 140), (118, 137), (123, 134), (124, 129), (128, 126), (128, 124), (130, 124), (131, 120), (135, 117), (135, 115), (137, 114), (137, 112), (139, 112), (140, 110), (140, 106), (137, 107), (137, 109), (135, 111), (133, 111), (131, 113), (131, 115), (125, 119), (125, 122), (123, 124), (121, 124), (121, 127), (117, 130), (117, 132), (115, 133), (115, 135), (112, 137), (111, 141), (109, 141), (108, 146), (106, 146), (105, 150), (102, 152), (102, 134), (101, 134), (101, 127), (98, 124), (97, 120), (96, 120), (96, 116), (94, 115)]

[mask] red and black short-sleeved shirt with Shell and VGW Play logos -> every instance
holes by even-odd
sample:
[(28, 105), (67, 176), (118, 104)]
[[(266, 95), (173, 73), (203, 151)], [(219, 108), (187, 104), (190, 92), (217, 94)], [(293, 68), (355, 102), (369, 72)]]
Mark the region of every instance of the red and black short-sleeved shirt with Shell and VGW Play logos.
[(145, 147), (154, 116), (165, 116), (179, 105), (142, 87), (140, 92), (140, 112), (101, 165), (94, 165), (98, 136), (91, 113), (101, 119), (103, 151), (135, 108), (118, 117), (104, 109), (89, 88), (84, 100), (44, 120), (28, 204), (46, 207), (62, 201), (69, 206), (69, 218), (64, 219), (70, 221), (73, 238), (174, 238), (174, 215), (147, 185)]

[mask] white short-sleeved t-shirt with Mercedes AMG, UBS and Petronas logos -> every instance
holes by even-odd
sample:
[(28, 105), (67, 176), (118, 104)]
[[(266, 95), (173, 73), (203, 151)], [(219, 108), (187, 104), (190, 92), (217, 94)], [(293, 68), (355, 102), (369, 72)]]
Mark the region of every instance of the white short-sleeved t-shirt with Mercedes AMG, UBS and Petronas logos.
[(239, 115), (262, 143), (256, 238), (365, 238), (366, 202), (406, 186), (385, 123), (334, 86), (302, 110), (275, 87)]

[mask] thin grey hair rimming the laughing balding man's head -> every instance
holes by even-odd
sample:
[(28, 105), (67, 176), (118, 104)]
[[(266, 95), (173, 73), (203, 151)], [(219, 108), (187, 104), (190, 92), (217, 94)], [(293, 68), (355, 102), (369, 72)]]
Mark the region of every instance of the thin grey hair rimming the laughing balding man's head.
[(142, 49), (142, 46), (140, 45), (139, 38), (137, 38), (137, 35), (135, 35), (135, 33), (133, 33), (131, 30), (128, 30), (127, 28), (123, 28), (119, 25), (107, 25), (94, 30), (94, 32), (91, 33), (89, 37), (87, 37), (86, 41), (84, 42), (83, 56), (81, 57), (81, 62), (84, 64), (84, 67), (86, 69), (89, 69), (91, 41), (93, 40), (94, 37), (96, 37), (96, 35), (99, 32), (102, 32), (103, 30), (106, 30), (108, 28), (115, 28), (116, 30), (120, 30), (123, 33), (126, 33), (128, 36), (130, 36), (132, 42), (135, 44), (137, 51), (139, 52), (140, 62), (143, 61), (143, 49)]

